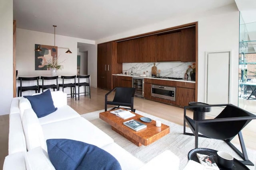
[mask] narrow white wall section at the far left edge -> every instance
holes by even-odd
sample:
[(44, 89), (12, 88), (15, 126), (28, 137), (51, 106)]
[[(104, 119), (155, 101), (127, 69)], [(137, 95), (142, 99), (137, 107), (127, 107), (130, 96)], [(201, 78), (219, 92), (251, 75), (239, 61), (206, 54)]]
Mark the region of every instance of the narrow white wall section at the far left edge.
[(0, 1), (0, 115), (8, 114), (13, 97), (13, 2), (12, 0)]

